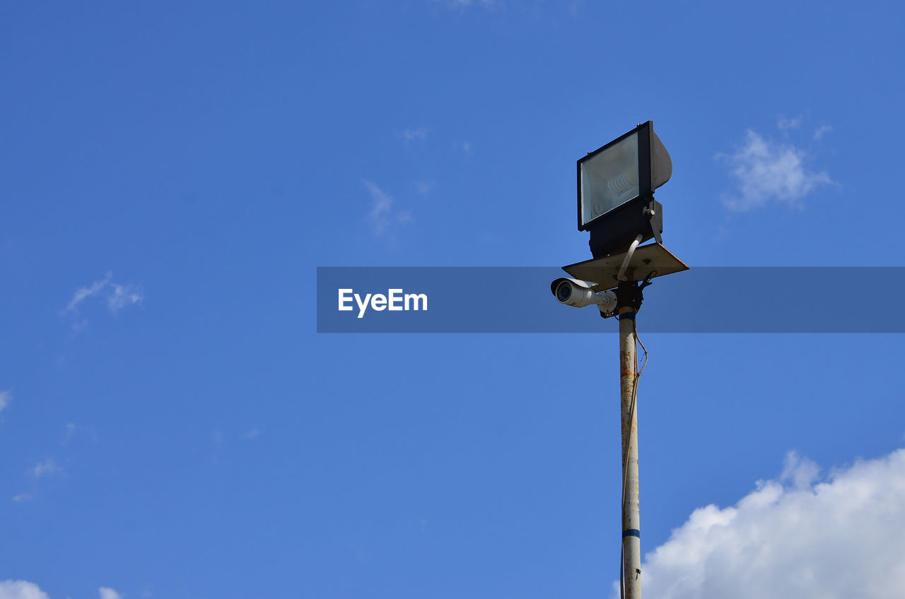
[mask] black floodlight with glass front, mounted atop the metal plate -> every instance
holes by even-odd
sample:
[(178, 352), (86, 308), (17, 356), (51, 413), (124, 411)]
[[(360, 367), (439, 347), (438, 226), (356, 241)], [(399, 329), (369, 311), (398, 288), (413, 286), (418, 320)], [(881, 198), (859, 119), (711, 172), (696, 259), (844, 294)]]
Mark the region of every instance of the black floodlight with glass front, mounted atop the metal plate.
[(578, 231), (591, 232), (595, 258), (625, 252), (639, 234), (642, 242), (662, 242), (663, 207), (653, 190), (670, 176), (672, 160), (653, 120), (578, 160)]

